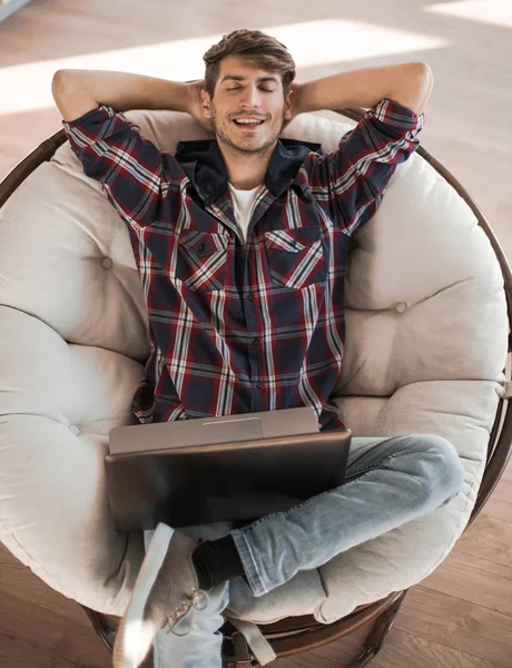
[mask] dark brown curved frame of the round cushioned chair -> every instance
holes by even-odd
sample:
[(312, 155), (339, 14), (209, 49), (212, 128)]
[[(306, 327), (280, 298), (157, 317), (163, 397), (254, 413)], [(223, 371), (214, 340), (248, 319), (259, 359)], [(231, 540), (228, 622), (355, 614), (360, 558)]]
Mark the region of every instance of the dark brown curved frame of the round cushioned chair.
[[(365, 110), (362, 108), (338, 109), (337, 114), (358, 121), (363, 118)], [(67, 141), (65, 130), (61, 129), (45, 141), (42, 141), (32, 153), (30, 153), (0, 184), (0, 208), (22, 184), (27, 177), (43, 161), (49, 160), (56, 150)], [(423, 146), (420, 146), (417, 154), (425, 159), (432, 167), (456, 190), (472, 209), (479, 225), (485, 232), (491, 246), (496, 255), (498, 262), (503, 274), (503, 283), (506, 295), (506, 306), (509, 316), (509, 331), (512, 331), (512, 273), (505, 254), (498, 242), (489, 222), (476, 206), (469, 193), (463, 188), (459, 180), (439, 163)], [(509, 354), (512, 352), (512, 334), (509, 334)], [(503, 370), (503, 373), (506, 373)], [(511, 381), (510, 374), (506, 376)], [(505, 406), (506, 402), (506, 406)], [(492, 494), (500, 478), (502, 477), (506, 464), (512, 454), (512, 406), (509, 397), (505, 395), (500, 399), (496, 416), (491, 431), (485, 471), (480, 485), (476, 503), (469, 520), (467, 528), (475, 521), (488, 499)], [(394, 619), (407, 593), (403, 591), (392, 592), (386, 598), (376, 602), (360, 606), (351, 615), (329, 625), (323, 625), (315, 620), (313, 616), (291, 617), (276, 623), (260, 626), (260, 631), (265, 639), (273, 647), (277, 658), (292, 656), (301, 651), (311, 650), (334, 640), (348, 636), (373, 621), (372, 629), (366, 636), (360, 654), (351, 660), (345, 668), (363, 668), (380, 651), (383, 641), (393, 626)], [(111, 652), (116, 637), (117, 626), (120, 621), (118, 617), (99, 613), (95, 610), (83, 607), (91, 625), (99, 637)], [(256, 658), (245, 641), (245, 638), (228, 621), (221, 628), (224, 633), (223, 659), (225, 668), (253, 668), (258, 666)]]

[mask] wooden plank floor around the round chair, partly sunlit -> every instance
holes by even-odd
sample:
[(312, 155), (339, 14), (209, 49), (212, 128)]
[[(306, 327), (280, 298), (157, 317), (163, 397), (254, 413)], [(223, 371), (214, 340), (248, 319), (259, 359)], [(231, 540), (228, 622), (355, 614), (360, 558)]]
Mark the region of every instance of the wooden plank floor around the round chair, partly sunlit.
[[(299, 81), (372, 65), (421, 59), (432, 66), (435, 87), (422, 144), (469, 189), (511, 257), (511, 6), (489, 1), (485, 19), (471, 19), (450, 11), (477, 9), (476, 2), (436, 3), (444, 11), (434, 11), (420, 0), (259, 0), (250, 7), (233, 0), (33, 1), (0, 24), (0, 178), (60, 128), (48, 96), (52, 68), (137, 67), (193, 78), (183, 68), (186, 59), (166, 61), (151, 46), (183, 41), (185, 49), (184, 40), (193, 40), (201, 56), (208, 40), (235, 28), (275, 27), (278, 37), (277, 29), (287, 27), (282, 41), (288, 40), (294, 56), (292, 45), (302, 45)], [(138, 49), (134, 67), (132, 48)], [(101, 53), (99, 65), (90, 59), (95, 53)], [(366, 631), (275, 666), (344, 666)], [(109, 665), (79, 606), (0, 548), (0, 668)], [(511, 468), (447, 560), (407, 593), (371, 665), (512, 668)]]

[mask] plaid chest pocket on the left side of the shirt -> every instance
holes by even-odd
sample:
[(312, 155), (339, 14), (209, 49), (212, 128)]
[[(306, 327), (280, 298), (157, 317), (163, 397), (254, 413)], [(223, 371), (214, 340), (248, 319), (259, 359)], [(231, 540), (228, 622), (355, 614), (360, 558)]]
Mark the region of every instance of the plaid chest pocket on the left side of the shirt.
[(181, 230), (178, 238), (176, 277), (190, 289), (224, 289), (229, 237), (198, 229)]

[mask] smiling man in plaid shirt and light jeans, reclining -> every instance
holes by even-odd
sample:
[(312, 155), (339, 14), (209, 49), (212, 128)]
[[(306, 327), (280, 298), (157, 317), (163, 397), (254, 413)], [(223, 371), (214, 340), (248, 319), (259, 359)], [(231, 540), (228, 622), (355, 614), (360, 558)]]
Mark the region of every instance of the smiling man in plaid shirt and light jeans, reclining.
[[(348, 242), (417, 148), (431, 69), (410, 62), (297, 85), (286, 48), (252, 30), (224, 37), (205, 62), (199, 84), (80, 70), (53, 79), (71, 147), (126, 222), (141, 275), (151, 355), (132, 410), (148, 423), (308, 405), (322, 430), (343, 428), (331, 394)], [(278, 139), (298, 114), (351, 106), (370, 110), (335, 153)], [(160, 153), (122, 115), (137, 108), (187, 111), (215, 139)], [(221, 610), (232, 578), (263, 596), (434, 511), (462, 482), (441, 436), (354, 438), (346, 483), (286, 513), (206, 542), (159, 524), (115, 666), (141, 665), (155, 635), (177, 633), (219, 587)], [(220, 668), (219, 642), (201, 666)]]

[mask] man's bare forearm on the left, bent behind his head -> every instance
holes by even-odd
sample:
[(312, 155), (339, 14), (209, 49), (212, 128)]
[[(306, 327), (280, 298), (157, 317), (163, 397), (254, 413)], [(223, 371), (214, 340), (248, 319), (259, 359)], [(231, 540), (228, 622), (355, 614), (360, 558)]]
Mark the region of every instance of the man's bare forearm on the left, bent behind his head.
[(99, 105), (116, 111), (188, 111), (190, 95), (187, 84), (102, 70), (58, 70), (51, 91), (65, 120), (75, 120)]

